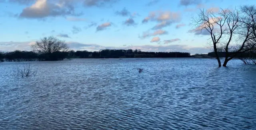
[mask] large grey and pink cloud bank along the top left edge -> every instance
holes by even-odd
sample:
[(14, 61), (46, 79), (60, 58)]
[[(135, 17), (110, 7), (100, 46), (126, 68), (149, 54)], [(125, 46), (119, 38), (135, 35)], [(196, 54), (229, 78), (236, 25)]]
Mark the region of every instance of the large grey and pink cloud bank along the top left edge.
[[(8, 0), (8, 2), (30, 5), (24, 8), (18, 15), (21, 18), (29, 19), (44, 19), (46, 17), (58, 16), (80, 16), (82, 15), (82, 12), (75, 12), (77, 5), (83, 4), (86, 7), (101, 7), (117, 1), (118, 0)], [(67, 18), (67, 20), (85, 21), (86, 19)]]

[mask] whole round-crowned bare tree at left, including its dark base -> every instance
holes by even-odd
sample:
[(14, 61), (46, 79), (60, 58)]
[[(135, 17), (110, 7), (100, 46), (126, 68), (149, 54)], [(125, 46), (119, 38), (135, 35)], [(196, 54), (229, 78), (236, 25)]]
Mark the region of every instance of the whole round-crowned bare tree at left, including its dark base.
[(65, 41), (55, 37), (44, 37), (31, 46), (33, 51), (40, 54), (44, 60), (63, 60), (68, 56), (69, 47)]

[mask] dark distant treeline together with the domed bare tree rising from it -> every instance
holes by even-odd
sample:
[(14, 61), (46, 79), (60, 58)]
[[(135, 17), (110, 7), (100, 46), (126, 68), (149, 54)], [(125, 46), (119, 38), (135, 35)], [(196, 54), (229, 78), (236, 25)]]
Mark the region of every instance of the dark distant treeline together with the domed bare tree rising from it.
[(104, 49), (94, 52), (69, 50), (68, 45), (55, 37), (44, 37), (31, 46), (32, 51), (0, 52), (3, 61), (50, 61), (64, 58), (172, 58), (191, 57), (188, 52), (143, 52), (141, 50)]

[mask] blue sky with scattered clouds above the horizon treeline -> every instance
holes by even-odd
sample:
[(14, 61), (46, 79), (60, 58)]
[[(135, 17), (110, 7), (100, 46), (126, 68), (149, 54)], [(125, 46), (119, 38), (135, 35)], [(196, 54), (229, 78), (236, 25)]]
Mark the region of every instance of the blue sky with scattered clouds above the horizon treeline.
[(0, 51), (54, 36), (73, 50), (208, 53), (210, 36), (194, 31), (192, 17), (248, 4), (256, 0), (0, 0)]

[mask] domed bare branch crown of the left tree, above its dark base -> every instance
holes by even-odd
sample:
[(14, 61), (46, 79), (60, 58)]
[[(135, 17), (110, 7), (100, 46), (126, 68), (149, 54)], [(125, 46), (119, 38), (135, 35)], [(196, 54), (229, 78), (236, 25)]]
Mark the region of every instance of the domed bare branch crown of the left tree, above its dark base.
[(55, 37), (44, 37), (39, 42), (31, 46), (38, 54), (50, 54), (53, 52), (67, 52), (69, 47), (65, 41), (59, 40)]

